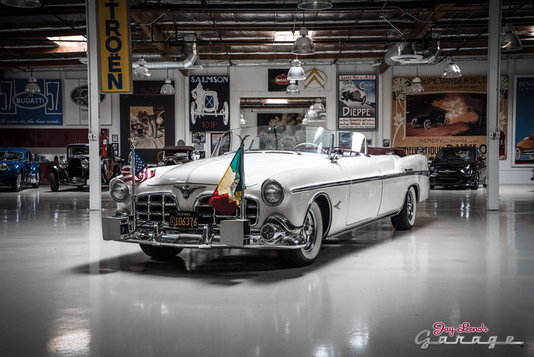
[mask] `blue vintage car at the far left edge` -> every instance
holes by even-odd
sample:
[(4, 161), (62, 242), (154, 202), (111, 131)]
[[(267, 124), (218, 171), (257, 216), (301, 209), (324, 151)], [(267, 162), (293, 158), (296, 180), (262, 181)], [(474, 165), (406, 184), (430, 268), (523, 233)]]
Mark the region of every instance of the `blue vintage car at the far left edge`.
[(16, 147), (0, 147), (0, 185), (11, 186), (15, 192), (23, 185), (38, 188), (41, 181), (39, 164), (32, 153)]

